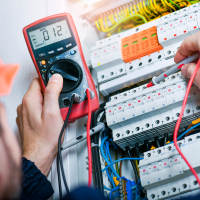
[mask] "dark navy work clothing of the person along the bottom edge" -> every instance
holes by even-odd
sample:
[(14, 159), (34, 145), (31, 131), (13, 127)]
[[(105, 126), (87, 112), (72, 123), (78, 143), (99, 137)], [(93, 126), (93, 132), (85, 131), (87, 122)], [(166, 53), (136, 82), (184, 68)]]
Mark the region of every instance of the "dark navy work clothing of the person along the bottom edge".
[[(22, 158), (22, 197), (21, 200), (47, 200), (54, 190), (46, 176), (26, 158)], [(63, 200), (106, 200), (98, 190), (80, 187), (65, 196)]]

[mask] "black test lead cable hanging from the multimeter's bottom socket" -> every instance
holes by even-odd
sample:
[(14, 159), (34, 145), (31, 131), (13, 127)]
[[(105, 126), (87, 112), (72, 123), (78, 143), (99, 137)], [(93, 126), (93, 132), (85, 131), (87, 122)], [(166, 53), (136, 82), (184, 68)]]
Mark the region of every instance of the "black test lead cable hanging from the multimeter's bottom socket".
[(59, 136), (59, 139), (58, 139), (57, 172), (58, 172), (60, 199), (62, 198), (60, 168), (61, 168), (62, 178), (63, 178), (63, 182), (64, 182), (64, 185), (65, 185), (66, 192), (67, 192), (67, 194), (69, 194), (69, 187), (67, 185), (67, 180), (66, 180), (66, 176), (65, 176), (65, 170), (64, 170), (64, 167), (63, 167), (62, 154), (61, 154), (61, 150), (62, 150), (61, 149), (61, 140), (62, 140), (62, 136), (63, 136), (65, 127), (66, 127), (68, 119), (69, 119), (69, 115), (70, 115), (71, 110), (72, 110), (73, 102), (74, 102), (74, 94), (72, 94), (70, 105), (69, 105), (69, 110), (68, 110), (68, 113), (67, 113), (67, 117), (66, 117), (66, 119), (64, 121), (63, 127), (62, 127), (61, 132), (60, 132), (60, 136)]

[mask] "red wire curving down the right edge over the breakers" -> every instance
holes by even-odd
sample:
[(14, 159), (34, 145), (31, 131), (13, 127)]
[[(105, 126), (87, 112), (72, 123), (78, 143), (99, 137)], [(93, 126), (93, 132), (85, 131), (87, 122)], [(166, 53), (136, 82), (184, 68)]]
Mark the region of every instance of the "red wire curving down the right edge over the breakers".
[(186, 90), (186, 93), (185, 93), (185, 97), (184, 97), (184, 100), (183, 100), (183, 105), (182, 105), (182, 109), (181, 109), (181, 113), (180, 113), (180, 116), (178, 118), (178, 121), (176, 123), (176, 127), (175, 127), (175, 130), (174, 130), (174, 136), (173, 136), (173, 139), (174, 139), (174, 145), (177, 149), (177, 151), (179, 152), (179, 154), (181, 155), (181, 157), (183, 158), (183, 160), (187, 163), (188, 167), (190, 168), (191, 172), (194, 174), (194, 176), (196, 177), (199, 185), (200, 185), (200, 179), (196, 173), (196, 171), (194, 170), (194, 168), (191, 166), (191, 164), (188, 162), (188, 160), (186, 159), (186, 157), (183, 155), (183, 153), (181, 152), (178, 144), (177, 144), (177, 135), (178, 135), (178, 130), (179, 130), (179, 126), (180, 126), (180, 123), (181, 123), (181, 120), (182, 120), (182, 116), (183, 116), (183, 113), (184, 113), (184, 110), (185, 110), (185, 106), (186, 106), (186, 103), (187, 103), (187, 99), (188, 99), (188, 96), (189, 96), (189, 92), (190, 92), (190, 88), (192, 86), (192, 83), (194, 81), (194, 78), (196, 76), (196, 73), (199, 69), (199, 63), (200, 63), (200, 59), (198, 60), (197, 62), (197, 65), (196, 65), (196, 68), (190, 78), (190, 81), (188, 83), (188, 87), (187, 87), (187, 90)]

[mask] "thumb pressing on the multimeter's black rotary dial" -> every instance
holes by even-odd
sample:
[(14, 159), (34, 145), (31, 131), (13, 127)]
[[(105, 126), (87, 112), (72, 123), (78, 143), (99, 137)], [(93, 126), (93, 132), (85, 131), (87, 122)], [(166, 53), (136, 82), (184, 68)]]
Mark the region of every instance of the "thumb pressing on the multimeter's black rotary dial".
[(63, 88), (63, 78), (60, 74), (54, 74), (44, 91), (44, 113), (60, 113), (58, 99)]

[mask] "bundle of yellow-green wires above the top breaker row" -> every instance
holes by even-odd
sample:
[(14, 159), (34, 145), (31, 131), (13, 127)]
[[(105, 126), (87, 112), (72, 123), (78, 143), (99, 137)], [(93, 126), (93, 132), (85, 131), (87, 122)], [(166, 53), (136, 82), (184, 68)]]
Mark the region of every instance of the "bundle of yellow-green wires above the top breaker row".
[(196, 0), (134, 1), (133, 4), (104, 13), (98, 20), (95, 20), (95, 25), (99, 31), (108, 33), (108, 36), (111, 36), (113, 33), (120, 33), (140, 26), (198, 2)]

